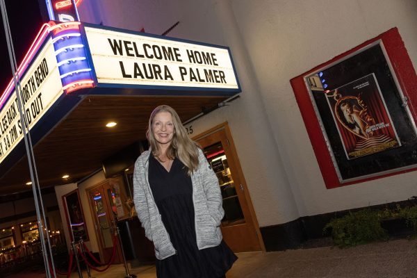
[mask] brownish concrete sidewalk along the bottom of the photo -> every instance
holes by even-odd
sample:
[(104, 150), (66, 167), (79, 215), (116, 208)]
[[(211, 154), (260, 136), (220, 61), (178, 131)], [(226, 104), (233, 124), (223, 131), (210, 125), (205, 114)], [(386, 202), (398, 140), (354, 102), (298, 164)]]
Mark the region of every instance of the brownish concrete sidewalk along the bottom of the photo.
[[(417, 240), (390, 240), (357, 247), (318, 247), (283, 252), (238, 253), (239, 259), (227, 278), (417, 278)], [(112, 265), (95, 278), (123, 278), (124, 267)], [(131, 269), (138, 278), (155, 278), (154, 265)], [(12, 277), (12, 276), (10, 276)], [(24, 276), (13, 278), (44, 277)], [(74, 273), (72, 277), (79, 277)], [(83, 278), (88, 277), (83, 273)]]

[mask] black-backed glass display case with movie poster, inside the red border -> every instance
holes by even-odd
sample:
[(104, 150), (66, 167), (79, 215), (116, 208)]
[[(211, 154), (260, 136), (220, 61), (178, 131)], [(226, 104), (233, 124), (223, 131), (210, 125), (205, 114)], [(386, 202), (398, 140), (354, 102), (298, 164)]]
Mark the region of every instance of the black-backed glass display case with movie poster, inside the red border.
[(341, 57), (304, 83), (340, 183), (417, 165), (416, 124), (382, 44)]

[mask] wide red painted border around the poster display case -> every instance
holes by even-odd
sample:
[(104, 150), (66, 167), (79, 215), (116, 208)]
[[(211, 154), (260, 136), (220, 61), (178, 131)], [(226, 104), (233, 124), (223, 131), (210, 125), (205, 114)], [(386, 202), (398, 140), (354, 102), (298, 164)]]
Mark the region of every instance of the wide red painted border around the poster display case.
[[(376, 42), (377, 40), (382, 40), (386, 54), (391, 61), (395, 76), (398, 79), (398, 83), (401, 87), (404, 97), (408, 99), (408, 105), (411, 106), (411, 116), (414, 118), (414, 122), (417, 122), (417, 76), (416, 71), (414, 70), (413, 64), (407, 53), (407, 49), (404, 46), (404, 42), (398, 32), (398, 28), (391, 28), (389, 31), (378, 35), (375, 38), (372, 38), (362, 44), (359, 44), (357, 47), (346, 51), (345, 53), (338, 55), (332, 60), (328, 60), (326, 63), (322, 63), (308, 72), (304, 72), (299, 76), (291, 79), (291, 86), (293, 87), (295, 99), (297, 100), (298, 107), (300, 108), (304, 124), (309, 134), (311, 145), (313, 145), (314, 153), (322, 173), (322, 177), (325, 181), (326, 188), (337, 188), (340, 186), (347, 186), (354, 183), (361, 183), (363, 181), (370, 181), (373, 179), (380, 179), (382, 177), (389, 177), (394, 174), (402, 174), (405, 172), (411, 172), (417, 170), (417, 167), (413, 167), (407, 170), (399, 170), (396, 172), (389, 172), (386, 174), (377, 174), (373, 177), (366, 177), (364, 179), (356, 179), (355, 181), (348, 181), (341, 183), (338, 179), (336, 169), (332, 162), (332, 157), (329, 154), (329, 149), (327, 148), (325, 137), (323, 136), (322, 129), (318, 122), (318, 118), (311, 103), (309, 97), (309, 92), (306, 88), (304, 82), (304, 76), (309, 75), (313, 72), (320, 70), (322, 67), (325, 67), (329, 64), (336, 63), (339, 60), (343, 60), (346, 56), (353, 54), (355, 51), (362, 49), (363, 47)], [(395, 170), (394, 170), (395, 171)]]

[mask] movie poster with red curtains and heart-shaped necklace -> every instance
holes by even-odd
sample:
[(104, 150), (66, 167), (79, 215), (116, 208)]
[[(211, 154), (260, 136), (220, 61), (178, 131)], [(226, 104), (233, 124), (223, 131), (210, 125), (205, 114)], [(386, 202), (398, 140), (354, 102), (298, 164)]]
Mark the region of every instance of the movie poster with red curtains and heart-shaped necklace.
[(375, 74), (363, 76), (326, 95), (347, 159), (401, 146)]

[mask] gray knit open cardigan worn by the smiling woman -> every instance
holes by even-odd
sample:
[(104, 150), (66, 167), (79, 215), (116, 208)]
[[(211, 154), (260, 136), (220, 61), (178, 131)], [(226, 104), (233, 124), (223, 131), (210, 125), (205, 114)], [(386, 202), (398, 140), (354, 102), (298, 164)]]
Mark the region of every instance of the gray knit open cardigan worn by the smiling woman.
[[(161, 220), (148, 181), (150, 150), (143, 152), (135, 163), (133, 174), (133, 201), (138, 218), (145, 228), (145, 236), (154, 242), (156, 259), (162, 260), (176, 254)], [(195, 211), (195, 235), (199, 250), (214, 247), (222, 241), (220, 223), (224, 211), (218, 179), (199, 149), (199, 166), (191, 174)]]

